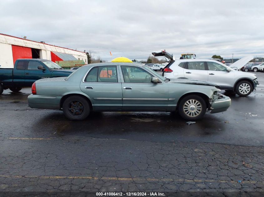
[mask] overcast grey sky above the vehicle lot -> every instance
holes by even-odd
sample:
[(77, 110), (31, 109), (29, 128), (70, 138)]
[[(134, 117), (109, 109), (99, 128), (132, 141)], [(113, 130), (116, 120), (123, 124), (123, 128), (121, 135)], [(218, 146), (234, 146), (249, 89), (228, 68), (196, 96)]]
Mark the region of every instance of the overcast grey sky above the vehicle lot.
[(0, 33), (94, 52), (95, 58), (264, 56), (264, 1), (0, 1)]

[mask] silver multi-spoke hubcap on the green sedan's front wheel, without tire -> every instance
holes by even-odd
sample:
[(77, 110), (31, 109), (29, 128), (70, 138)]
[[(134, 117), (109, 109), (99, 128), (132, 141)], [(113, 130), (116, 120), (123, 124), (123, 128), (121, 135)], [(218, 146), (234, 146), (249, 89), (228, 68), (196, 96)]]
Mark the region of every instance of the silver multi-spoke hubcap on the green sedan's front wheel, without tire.
[(195, 99), (186, 101), (183, 105), (184, 113), (189, 117), (196, 117), (202, 112), (202, 105)]

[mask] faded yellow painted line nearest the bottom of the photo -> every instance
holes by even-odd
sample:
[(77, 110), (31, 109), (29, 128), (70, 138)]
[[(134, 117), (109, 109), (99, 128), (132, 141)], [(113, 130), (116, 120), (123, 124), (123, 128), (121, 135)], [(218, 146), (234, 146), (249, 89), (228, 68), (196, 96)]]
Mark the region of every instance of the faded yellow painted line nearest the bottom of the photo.
[[(169, 179), (169, 178), (127, 178), (127, 177), (93, 177), (93, 176), (8, 176), (8, 175), (0, 175), (3, 178), (40, 178), (40, 179), (93, 179), (93, 180), (116, 180), (116, 181), (162, 181), (162, 182), (220, 182), (220, 183), (237, 183), (237, 181), (221, 181), (221, 180), (214, 180), (214, 179)], [(256, 184), (258, 181), (241, 181), (241, 183), (252, 183)]]

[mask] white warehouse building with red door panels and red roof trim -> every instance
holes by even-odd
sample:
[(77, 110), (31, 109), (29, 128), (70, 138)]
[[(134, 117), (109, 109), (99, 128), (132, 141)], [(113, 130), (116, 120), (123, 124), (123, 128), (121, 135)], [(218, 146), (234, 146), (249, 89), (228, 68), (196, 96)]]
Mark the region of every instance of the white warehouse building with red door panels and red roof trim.
[(85, 52), (0, 33), (1, 68), (13, 68), (16, 59), (21, 58), (41, 58), (51, 60), (52, 62), (78, 62), (79, 60), (83, 64), (87, 64)]

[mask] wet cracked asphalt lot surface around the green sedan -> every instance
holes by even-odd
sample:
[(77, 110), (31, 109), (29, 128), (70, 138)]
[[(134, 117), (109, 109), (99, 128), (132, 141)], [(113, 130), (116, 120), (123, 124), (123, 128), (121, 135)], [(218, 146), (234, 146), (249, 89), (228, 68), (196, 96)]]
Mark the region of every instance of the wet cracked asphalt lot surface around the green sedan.
[(256, 95), (188, 125), (173, 113), (103, 112), (72, 122), (0, 95), (0, 191), (264, 192), (264, 73)]

